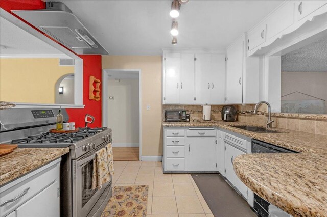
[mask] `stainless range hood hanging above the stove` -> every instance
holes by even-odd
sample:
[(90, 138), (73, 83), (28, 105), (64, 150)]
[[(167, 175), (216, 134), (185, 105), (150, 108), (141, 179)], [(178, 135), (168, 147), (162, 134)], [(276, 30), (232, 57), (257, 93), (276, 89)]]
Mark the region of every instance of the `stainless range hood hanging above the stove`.
[(44, 10), (12, 12), (77, 54), (109, 54), (62, 2), (46, 2)]

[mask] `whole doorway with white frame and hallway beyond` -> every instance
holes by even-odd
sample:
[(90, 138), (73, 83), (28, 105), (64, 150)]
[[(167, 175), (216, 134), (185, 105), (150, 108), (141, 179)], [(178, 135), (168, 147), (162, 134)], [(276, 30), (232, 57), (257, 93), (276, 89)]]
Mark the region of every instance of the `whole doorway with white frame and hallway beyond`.
[(113, 160), (142, 160), (141, 70), (104, 69), (102, 123), (112, 129)]

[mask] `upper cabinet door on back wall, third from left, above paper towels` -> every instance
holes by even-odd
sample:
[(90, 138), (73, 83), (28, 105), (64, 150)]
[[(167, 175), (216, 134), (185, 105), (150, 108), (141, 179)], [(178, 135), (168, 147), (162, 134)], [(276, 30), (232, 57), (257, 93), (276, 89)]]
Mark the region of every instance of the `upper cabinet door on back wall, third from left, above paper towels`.
[(196, 55), (195, 96), (196, 104), (210, 103), (211, 93), (211, 55)]

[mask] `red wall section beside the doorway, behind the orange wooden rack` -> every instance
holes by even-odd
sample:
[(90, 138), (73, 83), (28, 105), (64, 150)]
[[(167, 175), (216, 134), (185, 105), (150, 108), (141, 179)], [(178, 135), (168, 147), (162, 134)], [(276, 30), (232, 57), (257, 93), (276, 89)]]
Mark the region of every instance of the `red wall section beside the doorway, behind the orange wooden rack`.
[[(67, 109), (69, 122), (75, 122), (77, 127), (84, 127), (85, 114), (89, 114), (95, 117), (96, 120), (88, 126), (101, 127), (102, 99), (99, 101), (89, 99), (89, 76), (93, 75), (102, 82), (101, 55), (79, 55), (79, 57), (83, 59), (83, 104), (85, 104), (85, 107)], [(101, 85), (100, 89), (102, 89)]]

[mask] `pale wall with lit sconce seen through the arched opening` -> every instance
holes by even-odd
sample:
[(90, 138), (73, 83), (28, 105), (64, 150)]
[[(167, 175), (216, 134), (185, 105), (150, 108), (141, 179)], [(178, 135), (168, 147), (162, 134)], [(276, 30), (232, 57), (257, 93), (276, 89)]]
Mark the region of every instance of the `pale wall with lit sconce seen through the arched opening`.
[[(63, 94), (59, 94), (59, 87), (63, 87)], [(63, 79), (55, 87), (56, 104), (74, 104), (74, 79)]]

